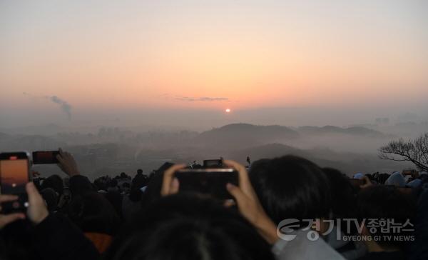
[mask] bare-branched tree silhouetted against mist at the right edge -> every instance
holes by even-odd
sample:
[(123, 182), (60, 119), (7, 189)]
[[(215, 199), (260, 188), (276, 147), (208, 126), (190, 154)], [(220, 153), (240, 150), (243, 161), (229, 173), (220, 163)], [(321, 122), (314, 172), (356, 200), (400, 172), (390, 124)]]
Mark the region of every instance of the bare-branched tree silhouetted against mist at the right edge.
[(416, 139), (390, 141), (379, 149), (379, 158), (392, 161), (411, 161), (420, 170), (428, 171), (428, 133)]

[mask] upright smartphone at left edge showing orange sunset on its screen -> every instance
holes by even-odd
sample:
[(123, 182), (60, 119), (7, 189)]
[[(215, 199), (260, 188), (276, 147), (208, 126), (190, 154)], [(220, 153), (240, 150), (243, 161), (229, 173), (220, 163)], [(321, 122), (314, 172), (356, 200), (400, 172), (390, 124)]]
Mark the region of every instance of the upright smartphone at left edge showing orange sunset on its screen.
[(29, 206), (25, 186), (31, 181), (29, 154), (26, 152), (0, 154), (0, 194), (18, 195), (17, 201), (1, 204), (1, 211), (24, 212)]

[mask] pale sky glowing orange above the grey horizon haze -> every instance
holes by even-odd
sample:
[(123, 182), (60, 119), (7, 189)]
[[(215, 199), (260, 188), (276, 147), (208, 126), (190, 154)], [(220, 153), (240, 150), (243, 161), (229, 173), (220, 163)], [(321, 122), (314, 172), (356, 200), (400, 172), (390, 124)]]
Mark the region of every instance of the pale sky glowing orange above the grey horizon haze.
[[(428, 94), (427, 7), (2, 1), (1, 109), (46, 109), (23, 92), (58, 96), (73, 109), (420, 101)], [(213, 101), (189, 101), (207, 97)]]

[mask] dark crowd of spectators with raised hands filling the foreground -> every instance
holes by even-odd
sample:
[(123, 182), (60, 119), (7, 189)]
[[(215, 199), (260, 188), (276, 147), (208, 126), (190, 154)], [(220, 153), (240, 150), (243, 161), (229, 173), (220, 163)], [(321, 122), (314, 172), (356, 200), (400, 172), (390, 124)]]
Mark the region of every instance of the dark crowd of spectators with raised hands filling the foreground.
[(68, 152), (58, 161), (66, 177), (27, 184), (25, 214), (0, 213), (0, 260), (428, 259), (424, 172), (350, 179), (291, 155), (223, 160), (238, 185), (220, 201), (180, 192), (184, 164), (91, 182)]

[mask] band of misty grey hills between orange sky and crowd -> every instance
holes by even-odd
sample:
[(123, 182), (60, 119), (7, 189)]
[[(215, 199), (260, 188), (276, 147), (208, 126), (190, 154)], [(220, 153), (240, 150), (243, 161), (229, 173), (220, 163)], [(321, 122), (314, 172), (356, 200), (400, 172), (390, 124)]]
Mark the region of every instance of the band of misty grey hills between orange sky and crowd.
[[(362, 126), (300, 126), (228, 124), (208, 131), (146, 130), (121, 127), (98, 127), (93, 131), (61, 131), (58, 125), (46, 134), (0, 134), (1, 151), (54, 150), (71, 151), (88, 176), (117, 174), (118, 171), (146, 172), (164, 161), (190, 162), (203, 159), (234, 159), (245, 164), (246, 156), (257, 159), (295, 154), (320, 166), (335, 167), (347, 174), (357, 171), (395, 171), (408, 164), (382, 161), (379, 146), (392, 134)], [(46, 129), (49, 126), (37, 126)], [(34, 128), (34, 127), (32, 127)], [(21, 129), (25, 130), (25, 129)], [(59, 173), (56, 166), (36, 166), (38, 171)]]

